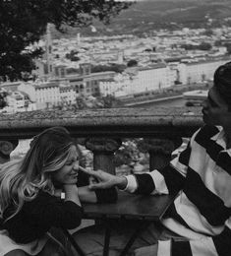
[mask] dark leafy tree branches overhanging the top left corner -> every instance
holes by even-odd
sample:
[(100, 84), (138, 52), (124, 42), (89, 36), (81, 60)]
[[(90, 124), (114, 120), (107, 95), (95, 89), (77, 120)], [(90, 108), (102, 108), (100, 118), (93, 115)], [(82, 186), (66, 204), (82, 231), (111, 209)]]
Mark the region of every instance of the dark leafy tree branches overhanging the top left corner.
[(29, 46), (48, 23), (60, 32), (66, 25), (90, 26), (93, 19), (108, 24), (130, 5), (116, 0), (0, 0), (0, 77), (14, 81), (31, 72), (42, 49)]

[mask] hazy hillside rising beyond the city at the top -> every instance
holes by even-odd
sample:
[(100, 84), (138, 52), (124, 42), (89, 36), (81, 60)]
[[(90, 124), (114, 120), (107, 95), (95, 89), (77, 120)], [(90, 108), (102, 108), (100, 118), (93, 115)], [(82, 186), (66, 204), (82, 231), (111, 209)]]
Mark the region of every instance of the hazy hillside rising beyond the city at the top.
[[(230, 0), (140, 1), (112, 18), (108, 26), (95, 21), (93, 26), (96, 32), (92, 32), (91, 28), (67, 28), (68, 34), (64, 36), (76, 35), (77, 32), (91, 36), (123, 33), (141, 35), (158, 29), (219, 27), (228, 23), (224, 18), (230, 17)], [(60, 34), (56, 33), (56, 36)]]

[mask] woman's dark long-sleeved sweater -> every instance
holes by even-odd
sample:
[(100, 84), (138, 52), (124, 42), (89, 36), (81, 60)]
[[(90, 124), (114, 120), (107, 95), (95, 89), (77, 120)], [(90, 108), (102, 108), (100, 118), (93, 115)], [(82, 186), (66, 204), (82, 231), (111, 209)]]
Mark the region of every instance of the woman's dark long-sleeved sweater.
[[(8, 208), (3, 221), (12, 213)], [(72, 201), (62, 201), (45, 192), (38, 193), (30, 202), (25, 202), (21, 211), (2, 224), (9, 236), (17, 243), (29, 243), (41, 237), (51, 226), (72, 229), (81, 224), (83, 209)]]

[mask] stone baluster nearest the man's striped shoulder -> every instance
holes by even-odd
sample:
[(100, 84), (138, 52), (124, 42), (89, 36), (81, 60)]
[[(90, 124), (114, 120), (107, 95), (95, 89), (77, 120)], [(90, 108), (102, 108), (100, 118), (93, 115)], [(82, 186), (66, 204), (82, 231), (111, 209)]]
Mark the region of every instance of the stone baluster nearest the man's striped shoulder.
[(160, 169), (171, 160), (172, 152), (180, 147), (181, 138), (175, 139), (144, 139), (139, 144), (140, 151), (149, 153), (149, 170)]

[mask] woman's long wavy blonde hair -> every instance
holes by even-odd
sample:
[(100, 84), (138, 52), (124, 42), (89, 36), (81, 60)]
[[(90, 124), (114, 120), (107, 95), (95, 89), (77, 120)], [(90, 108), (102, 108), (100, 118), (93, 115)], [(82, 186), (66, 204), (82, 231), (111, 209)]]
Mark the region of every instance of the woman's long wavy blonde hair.
[(72, 145), (74, 141), (65, 128), (52, 127), (33, 138), (23, 160), (0, 166), (1, 218), (8, 207), (14, 209), (10, 218), (15, 216), (24, 202), (34, 199), (40, 190), (53, 193), (51, 174), (63, 167)]

